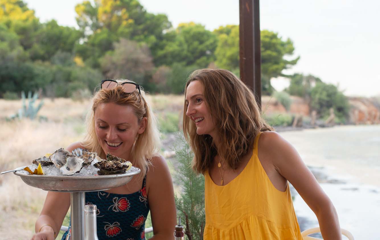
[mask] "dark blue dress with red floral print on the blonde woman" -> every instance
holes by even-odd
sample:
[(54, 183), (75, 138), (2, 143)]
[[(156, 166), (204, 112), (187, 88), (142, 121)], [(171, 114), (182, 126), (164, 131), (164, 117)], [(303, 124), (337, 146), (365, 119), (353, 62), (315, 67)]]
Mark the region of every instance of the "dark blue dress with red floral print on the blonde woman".
[[(86, 204), (97, 205), (97, 234), (99, 240), (145, 240), (145, 220), (149, 213), (146, 175), (139, 191), (114, 194), (105, 191), (86, 192)], [(71, 231), (63, 234), (62, 240)]]

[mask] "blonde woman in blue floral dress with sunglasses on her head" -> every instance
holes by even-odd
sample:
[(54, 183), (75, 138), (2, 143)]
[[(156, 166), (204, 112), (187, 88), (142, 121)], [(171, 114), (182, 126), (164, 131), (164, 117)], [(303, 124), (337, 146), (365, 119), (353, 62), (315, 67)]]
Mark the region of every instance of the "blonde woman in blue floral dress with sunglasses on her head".
[[(129, 80), (101, 81), (101, 89), (95, 93), (87, 116), (87, 129), (84, 141), (71, 144), (66, 148), (68, 151), (83, 148), (103, 159), (106, 153), (111, 153), (141, 169), (124, 186), (86, 192), (86, 203), (98, 208), (99, 240), (145, 239), (149, 211), (154, 233), (150, 239), (173, 237), (176, 224), (173, 183), (165, 159), (158, 154), (157, 122), (144, 91)], [(68, 193), (48, 192), (32, 240), (55, 239), (69, 207)]]

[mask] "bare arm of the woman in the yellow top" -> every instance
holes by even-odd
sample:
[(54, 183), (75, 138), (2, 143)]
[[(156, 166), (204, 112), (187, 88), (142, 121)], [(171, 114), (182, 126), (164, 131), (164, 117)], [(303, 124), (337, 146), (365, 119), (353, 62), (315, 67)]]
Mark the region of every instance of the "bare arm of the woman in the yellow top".
[(315, 213), (323, 239), (342, 239), (334, 205), (304, 164), (296, 149), (276, 132), (265, 132), (264, 135), (264, 141), (268, 143), (264, 144), (264, 148), (271, 149), (269, 153), (272, 164), (277, 172), (294, 186)]

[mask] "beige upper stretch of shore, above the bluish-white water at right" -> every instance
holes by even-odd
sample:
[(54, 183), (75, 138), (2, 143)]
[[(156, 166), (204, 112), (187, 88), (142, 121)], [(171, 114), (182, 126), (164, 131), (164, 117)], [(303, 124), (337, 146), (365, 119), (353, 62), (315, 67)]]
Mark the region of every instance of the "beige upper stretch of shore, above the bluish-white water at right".
[[(284, 130), (279, 134), (297, 149), (307, 166), (324, 168), (325, 173), (334, 178), (380, 188), (380, 137), (372, 134), (372, 129), (380, 132), (380, 124)], [(345, 138), (350, 138), (350, 132), (362, 138), (348, 143)], [(364, 141), (371, 140), (368, 139), (371, 135), (374, 135), (372, 145), (362, 146)]]

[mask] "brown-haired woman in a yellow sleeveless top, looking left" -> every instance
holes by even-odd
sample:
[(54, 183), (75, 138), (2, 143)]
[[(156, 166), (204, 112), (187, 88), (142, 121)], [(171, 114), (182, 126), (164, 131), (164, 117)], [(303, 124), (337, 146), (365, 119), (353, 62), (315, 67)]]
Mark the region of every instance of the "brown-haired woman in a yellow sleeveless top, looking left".
[(193, 72), (183, 122), (193, 169), (205, 177), (204, 240), (303, 239), (288, 181), (317, 215), (323, 239), (341, 239), (331, 200), (233, 73)]

